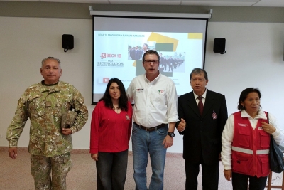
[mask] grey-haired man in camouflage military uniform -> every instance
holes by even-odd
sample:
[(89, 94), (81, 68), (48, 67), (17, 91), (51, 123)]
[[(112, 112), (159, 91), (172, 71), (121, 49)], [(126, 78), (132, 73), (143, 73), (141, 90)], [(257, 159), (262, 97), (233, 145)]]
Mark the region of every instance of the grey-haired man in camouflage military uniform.
[[(35, 189), (62, 190), (66, 189), (66, 176), (72, 167), (70, 134), (82, 129), (88, 119), (88, 110), (81, 93), (73, 85), (59, 81), (60, 60), (43, 59), (40, 73), (44, 80), (26, 89), (8, 127), (9, 157), (16, 159), (18, 139), (30, 118), (28, 152)], [(75, 122), (70, 128), (62, 128), (62, 116), (72, 109), (77, 113)]]

